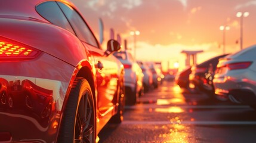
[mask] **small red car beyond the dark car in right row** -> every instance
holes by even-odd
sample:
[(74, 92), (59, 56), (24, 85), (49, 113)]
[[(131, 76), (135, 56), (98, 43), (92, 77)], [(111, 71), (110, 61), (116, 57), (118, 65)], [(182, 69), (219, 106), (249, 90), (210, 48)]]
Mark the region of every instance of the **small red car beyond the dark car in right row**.
[(191, 73), (191, 66), (186, 67), (184, 70), (178, 72), (175, 76), (175, 84), (180, 88), (189, 89), (189, 74)]

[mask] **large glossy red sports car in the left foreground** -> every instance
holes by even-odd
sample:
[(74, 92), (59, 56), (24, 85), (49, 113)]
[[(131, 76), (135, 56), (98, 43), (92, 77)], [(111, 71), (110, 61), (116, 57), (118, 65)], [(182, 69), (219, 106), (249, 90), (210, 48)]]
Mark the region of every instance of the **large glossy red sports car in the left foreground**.
[(75, 5), (1, 1), (0, 23), (0, 142), (96, 142), (122, 122), (120, 45), (103, 51)]

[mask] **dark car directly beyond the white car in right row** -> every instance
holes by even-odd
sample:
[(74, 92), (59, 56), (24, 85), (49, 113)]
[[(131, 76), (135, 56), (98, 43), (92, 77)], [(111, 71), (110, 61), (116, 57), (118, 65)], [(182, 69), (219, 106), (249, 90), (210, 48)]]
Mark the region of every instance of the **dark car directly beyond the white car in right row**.
[(189, 88), (196, 92), (206, 92), (210, 98), (214, 98), (214, 86), (208, 84), (205, 75), (210, 71), (215, 71), (220, 58), (225, 57), (227, 54), (218, 55), (217, 57), (210, 58), (203, 61), (201, 64), (191, 67), (189, 74)]

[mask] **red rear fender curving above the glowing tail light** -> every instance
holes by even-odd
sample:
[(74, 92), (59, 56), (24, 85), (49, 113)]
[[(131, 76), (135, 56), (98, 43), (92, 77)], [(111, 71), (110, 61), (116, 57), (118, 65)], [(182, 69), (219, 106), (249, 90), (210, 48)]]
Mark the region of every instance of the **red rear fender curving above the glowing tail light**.
[(26, 43), (74, 67), (81, 60), (88, 59), (87, 49), (81, 41), (69, 31), (53, 24), (10, 18), (0, 18), (0, 23), (0, 36)]

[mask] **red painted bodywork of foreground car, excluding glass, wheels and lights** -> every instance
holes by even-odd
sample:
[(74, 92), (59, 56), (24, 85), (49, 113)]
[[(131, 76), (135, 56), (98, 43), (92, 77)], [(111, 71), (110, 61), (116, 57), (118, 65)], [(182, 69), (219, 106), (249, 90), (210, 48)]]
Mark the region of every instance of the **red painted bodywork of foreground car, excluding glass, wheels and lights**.
[[(97, 133), (117, 111), (122, 64), (41, 17), (35, 10), (41, 2), (0, 2), (0, 42), (39, 53), (32, 59), (0, 57), (0, 142), (55, 142), (76, 76), (90, 82)], [(98, 61), (103, 69), (98, 69)]]

